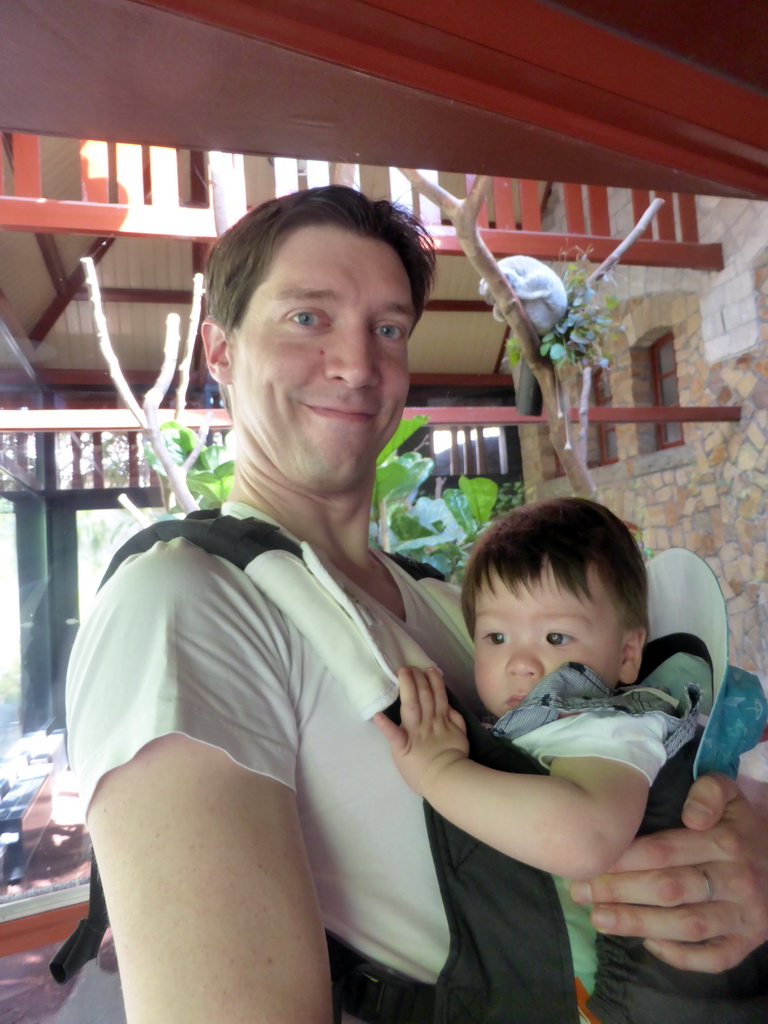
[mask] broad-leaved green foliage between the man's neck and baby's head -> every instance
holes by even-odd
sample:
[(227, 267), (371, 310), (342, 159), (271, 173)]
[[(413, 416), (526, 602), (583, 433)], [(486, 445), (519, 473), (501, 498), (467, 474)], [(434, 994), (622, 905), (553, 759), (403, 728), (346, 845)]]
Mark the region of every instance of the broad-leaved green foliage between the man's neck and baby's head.
[[(424, 426), (403, 420), (393, 440), (398, 444)], [(451, 580), (464, 572), (472, 545), (495, 514), (522, 503), (522, 484), (504, 484), (476, 476), (459, 478), (458, 487), (439, 498), (419, 496), (433, 463), (416, 452), (397, 455), (390, 444), (379, 457), (371, 509), (371, 538), (388, 551), (428, 562)]]

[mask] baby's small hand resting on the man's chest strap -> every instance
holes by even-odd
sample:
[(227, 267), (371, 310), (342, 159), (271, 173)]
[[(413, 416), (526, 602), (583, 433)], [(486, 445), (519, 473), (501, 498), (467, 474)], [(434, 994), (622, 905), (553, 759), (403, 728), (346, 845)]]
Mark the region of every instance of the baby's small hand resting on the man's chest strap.
[(437, 776), (469, 753), (464, 719), (452, 708), (439, 669), (400, 669), (400, 725), (379, 713), (374, 722), (389, 741), (397, 770), (411, 788), (429, 799)]

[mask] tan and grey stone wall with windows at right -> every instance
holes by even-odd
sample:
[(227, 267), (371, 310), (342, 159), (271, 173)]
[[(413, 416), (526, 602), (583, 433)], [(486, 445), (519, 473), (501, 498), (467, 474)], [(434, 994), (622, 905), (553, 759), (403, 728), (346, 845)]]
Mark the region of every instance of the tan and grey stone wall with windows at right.
[[(628, 206), (628, 193), (611, 196), (629, 225)], [(612, 353), (613, 403), (650, 403), (645, 350), (672, 332), (680, 403), (739, 406), (740, 422), (686, 423), (684, 443), (663, 451), (652, 427), (620, 425), (621, 461), (593, 475), (651, 551), (682, 546), (707, 560), (727, 600), (731, 660), (767, 682), (768, 204), (705, 198), (698, 212), (701, 241), (723, 243), (723, 271), (617, 268), (626, 344)], [(528, 496), (569, 493), (546, 429), (520, 438)]]

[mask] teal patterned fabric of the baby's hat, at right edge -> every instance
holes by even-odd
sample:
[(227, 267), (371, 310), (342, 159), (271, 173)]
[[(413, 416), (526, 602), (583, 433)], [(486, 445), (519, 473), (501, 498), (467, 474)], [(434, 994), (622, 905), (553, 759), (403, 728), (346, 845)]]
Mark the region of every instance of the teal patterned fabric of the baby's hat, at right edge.
[(758, 677), (729, 665), (701, 737), (694, 777), (721, 771), (735, 778), (738, 759), (760, 741), (766, 719), (768, 702)]

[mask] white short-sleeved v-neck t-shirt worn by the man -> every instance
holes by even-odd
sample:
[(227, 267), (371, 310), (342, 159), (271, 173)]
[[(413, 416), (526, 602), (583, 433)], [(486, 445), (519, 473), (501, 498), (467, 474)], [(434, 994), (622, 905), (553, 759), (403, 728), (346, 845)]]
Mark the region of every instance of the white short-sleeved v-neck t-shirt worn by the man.
[[(404, 628), (466, 697), (468, 639), (392, 571)], [(366, 603), (379, 623), (392, 620)], [(86, 806), (105, 772), (171, 732), (295, 790), (326, 928), (411, 977), (435, 979), (449, 935), (422, 801), (299, 629), (240, 569), (182, 540), (128, 560), (76, 640), (68, 719)]]

